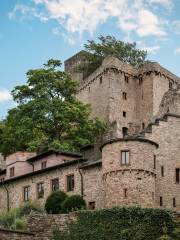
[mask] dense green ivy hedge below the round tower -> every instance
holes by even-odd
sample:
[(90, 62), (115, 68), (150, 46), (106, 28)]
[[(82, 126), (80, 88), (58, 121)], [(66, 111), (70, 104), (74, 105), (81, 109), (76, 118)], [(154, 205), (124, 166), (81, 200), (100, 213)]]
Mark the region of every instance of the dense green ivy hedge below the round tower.
[(162, 235), (171, 236), (174, 228), (173, 214), (164, 209), (81, 211), (69, 231), (56, 232), (54, 240), (156, 240)]

